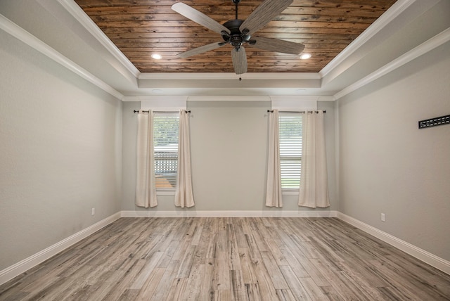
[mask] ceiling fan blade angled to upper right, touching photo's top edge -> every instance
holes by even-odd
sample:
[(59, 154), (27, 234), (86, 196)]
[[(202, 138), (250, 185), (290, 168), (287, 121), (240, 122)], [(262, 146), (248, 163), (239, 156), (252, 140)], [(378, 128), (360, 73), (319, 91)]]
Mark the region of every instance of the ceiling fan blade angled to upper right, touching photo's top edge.
[(293, 0), (265, 0), (240, 25), (240, 32), (244, 30), (248, 30), (248, 34), (257, 32), (292, 3)]

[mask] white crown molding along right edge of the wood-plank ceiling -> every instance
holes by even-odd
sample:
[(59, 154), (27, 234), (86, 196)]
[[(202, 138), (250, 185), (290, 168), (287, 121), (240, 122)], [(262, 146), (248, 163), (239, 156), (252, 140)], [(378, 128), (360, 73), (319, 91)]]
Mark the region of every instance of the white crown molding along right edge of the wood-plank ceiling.
[(367, 27), (364, 32), (362, 32), (352, 43), (349, 44), (349, 46), (345, 47), (344, 50), (342, 50), (338, 56), (335, 56), (333, 60), (328, 63), (325, 67), (322, 68), (322, 70), (319, 71), (319, 75), (321, 78), (325, 77), (333, 71), (335, 68), (338, 67), (344, 60), (349, 58), (349, 56), (352, 56), (352, 54), (361, 48), (368, 40), (370, 40), (372, 37), (375, 36), (375, 34), (378, 34), (380, 30), (382, 30), (387, 24), (392, 22), (395, 18), (397, 18), (401, 13), (403, 13), (406, 8), (409, 8), (416, 0), (399, 0), (394, 5), (392, 5), (383, 15), (380, 15), (380, 18), (375, 20), (372, 25)]

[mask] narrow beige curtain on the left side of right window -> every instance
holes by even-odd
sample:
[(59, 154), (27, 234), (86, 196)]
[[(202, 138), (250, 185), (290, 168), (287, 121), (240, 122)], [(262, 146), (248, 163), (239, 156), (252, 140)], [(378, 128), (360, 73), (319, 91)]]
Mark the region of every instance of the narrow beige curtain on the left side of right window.
[(267, 162), (266, 206), (283, 207), (280, 172), (278, 110), (269, 112), (269, 156)]

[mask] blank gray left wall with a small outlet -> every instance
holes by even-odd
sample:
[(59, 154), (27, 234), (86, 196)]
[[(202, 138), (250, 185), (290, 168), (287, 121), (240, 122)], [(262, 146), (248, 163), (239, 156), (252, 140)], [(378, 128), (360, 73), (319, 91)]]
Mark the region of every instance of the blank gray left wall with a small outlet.
[(122, 103), (0, 41), (1, 270), (120, 210)]

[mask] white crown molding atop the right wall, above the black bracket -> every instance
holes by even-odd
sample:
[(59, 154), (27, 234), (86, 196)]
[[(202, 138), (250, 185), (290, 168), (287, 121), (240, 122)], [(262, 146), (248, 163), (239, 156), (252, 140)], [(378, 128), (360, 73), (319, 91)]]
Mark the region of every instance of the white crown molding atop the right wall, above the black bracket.
[(401, 66), (411, 62), (411, 60), (414, 60), (419, 56), (422, 56), (428, 51), (432, 51), (432, 49), (441, 46), (447, 41), (450, 41), (450, 28), (447, 28), (446, 30), (440, 32), (439, 34), (436, 34), (435, 37), (428, 39), (419, 46), (416, 46), (416, 48), (411, 49), (410, 51), (396, 58), (395, 60), (392, 60), (390, 63), (387, 63), (378, 70), (375, 70), (370, 75), (367, 75), (366, 77), (359, 79), (359, 81), (354, 82), (354, 84), (351, 84), (345, 89), (342, 89), (341, 91), (339, 91), (334, 95), (334, 98), (337, 100), (343, 96), (346, 96), (349, 93), (352, 93), (353, 91), (356, 91), (361, 87), (366, 86), (366, 84), (370, 84), (375, 79), (379, 79), (380, 77), (387, 75), (387, 73), (392, 72), (397, 68), (400, 68)]

